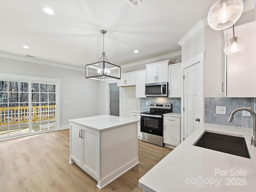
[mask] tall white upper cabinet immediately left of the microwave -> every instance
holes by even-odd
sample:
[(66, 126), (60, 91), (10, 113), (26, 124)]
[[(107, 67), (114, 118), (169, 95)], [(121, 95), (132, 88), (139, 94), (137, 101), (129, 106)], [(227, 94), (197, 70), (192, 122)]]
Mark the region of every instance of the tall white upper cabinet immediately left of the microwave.
[(136, 97), (145, 96), (146, 70), (136, 72)]

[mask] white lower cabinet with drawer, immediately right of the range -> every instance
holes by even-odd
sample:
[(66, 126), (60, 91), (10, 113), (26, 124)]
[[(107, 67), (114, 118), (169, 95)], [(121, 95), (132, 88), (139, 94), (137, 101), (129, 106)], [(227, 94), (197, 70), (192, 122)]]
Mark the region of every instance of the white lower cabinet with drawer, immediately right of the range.
[(164, 116), (164, 144), (180, 144), (180, 118)]

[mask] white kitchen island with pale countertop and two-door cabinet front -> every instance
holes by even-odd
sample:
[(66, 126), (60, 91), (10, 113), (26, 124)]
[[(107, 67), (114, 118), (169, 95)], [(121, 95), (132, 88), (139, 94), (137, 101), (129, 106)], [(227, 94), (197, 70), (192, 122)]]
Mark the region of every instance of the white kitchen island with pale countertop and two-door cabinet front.
[(103, 188), (139, 163), (139, 120), (110, 115), (68, 120), (70, 164), (97, 180)]

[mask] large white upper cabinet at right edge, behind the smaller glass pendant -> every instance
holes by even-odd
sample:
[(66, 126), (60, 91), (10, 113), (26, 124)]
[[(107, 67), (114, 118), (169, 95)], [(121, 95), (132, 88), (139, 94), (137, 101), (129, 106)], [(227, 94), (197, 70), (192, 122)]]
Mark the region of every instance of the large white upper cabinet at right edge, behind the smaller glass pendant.
[[(232, 28), (224, 30), (225, 41), (233, 37)], [(245, 50), (225, 57), (225, 96), (256, 97), (256, 21), (235, 26), (235, 37), (246, 42)]]

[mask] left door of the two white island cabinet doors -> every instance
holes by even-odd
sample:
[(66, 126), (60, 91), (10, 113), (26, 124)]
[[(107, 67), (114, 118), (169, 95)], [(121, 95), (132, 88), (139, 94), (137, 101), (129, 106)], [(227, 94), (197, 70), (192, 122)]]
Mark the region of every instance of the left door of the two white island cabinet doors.
[(82, 126), (70, 123), (70, 158), (82, 166)]

